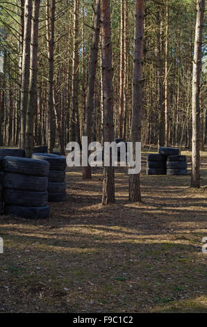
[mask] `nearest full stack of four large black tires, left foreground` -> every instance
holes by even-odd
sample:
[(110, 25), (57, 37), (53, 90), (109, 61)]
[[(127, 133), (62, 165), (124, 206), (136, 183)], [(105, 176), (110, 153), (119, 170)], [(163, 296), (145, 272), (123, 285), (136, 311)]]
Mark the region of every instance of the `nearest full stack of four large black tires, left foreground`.
[(3, 160), (4, 212), (21, 218), (49, 218), (49, 163), (19, 157)]

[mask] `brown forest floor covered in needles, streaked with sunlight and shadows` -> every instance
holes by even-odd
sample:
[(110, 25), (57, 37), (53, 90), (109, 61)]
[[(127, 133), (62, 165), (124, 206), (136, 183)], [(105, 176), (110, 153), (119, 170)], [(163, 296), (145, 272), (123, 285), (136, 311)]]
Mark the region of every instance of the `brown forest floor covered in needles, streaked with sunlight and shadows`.
[(83, 181), (67, 168), (67, 201), (50, 204), (49, 221), (0, 216), (0, 312), (207, 312), (207, 152), (201, 189), (190, 175), (145, 175), (144, 153), (142, 166), (140, 204), (126, 168), (104, 207), (101, 169)]

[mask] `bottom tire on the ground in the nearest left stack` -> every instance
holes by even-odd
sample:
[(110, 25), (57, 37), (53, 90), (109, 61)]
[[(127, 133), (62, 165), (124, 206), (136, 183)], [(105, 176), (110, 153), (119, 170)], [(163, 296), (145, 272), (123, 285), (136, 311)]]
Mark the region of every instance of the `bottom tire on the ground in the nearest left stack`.
[(9, 216), (27, 219), (49, 218), (49, 206), (45, 207), (21, 207), (17, 205), (4, 205), (4, 212)]

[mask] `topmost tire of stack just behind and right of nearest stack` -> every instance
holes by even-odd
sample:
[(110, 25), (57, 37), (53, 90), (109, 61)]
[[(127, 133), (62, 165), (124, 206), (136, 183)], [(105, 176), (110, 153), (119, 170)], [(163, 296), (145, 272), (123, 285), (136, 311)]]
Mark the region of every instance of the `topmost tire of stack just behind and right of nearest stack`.
[(67, 166), (66, 158), (63, 156), (58, 156), (57, 154), (33, 153), (32, 159), (48, 161), (50, 164), (50, 170), (65, 170)]

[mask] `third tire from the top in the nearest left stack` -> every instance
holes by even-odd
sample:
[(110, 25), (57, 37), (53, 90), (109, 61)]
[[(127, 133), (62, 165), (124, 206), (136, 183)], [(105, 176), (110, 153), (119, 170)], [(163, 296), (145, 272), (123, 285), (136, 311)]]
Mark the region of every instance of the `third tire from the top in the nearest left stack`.
[(8, 205), (21, 205), (22, 207), (44, 207), (48, 202), (48, 192), (4, 189), (3, 200)]

